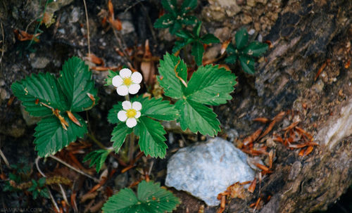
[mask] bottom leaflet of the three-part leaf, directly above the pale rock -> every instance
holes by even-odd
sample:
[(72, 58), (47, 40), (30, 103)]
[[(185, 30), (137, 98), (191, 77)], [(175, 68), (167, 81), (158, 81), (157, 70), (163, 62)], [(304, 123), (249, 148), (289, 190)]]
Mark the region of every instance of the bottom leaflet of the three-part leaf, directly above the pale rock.
[(220, 122), (216, 119), (216, 114), (210, 108), (201, 103), (181, 99), (176, 102), (176, 108), (180, 110), (180, 119), (182, 130), (187, 128), (196, 133), (214, 136), (220, 131)]

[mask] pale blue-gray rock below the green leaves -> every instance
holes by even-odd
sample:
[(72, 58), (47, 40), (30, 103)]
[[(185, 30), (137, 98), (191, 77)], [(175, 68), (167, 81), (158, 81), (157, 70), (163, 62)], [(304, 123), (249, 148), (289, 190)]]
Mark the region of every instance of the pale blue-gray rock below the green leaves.
[(219, 205), (216, 197), (228, 186), (254, 179), (246, 158), (232, 143), (212, 138), (178, 150), (168, 162), (165, 185), (187, 191), (209, 206)]

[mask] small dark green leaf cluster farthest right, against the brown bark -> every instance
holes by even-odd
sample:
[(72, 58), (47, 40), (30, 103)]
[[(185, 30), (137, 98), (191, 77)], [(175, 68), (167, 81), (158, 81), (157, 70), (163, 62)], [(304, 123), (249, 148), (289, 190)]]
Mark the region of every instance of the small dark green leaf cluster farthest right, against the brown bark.
[(236, 63), (237, 59), (241, 64), (244, 72), (253, 75), (256, 70), (254, 68), (255, 58), (262, 56), (268, 50), (268, 44), (253, 41), (249, 43), (249, 34), (246, 28), (241, 28), (235, 35), (236, 46), (229, 44), (227, 46), (228, 57), (226, 63)]

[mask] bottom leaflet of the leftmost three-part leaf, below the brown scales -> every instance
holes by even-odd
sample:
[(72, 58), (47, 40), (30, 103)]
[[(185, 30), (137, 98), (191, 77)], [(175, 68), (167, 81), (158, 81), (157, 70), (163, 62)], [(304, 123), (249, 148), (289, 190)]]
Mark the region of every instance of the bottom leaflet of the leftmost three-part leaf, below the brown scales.
[(87, 133), (87, 125), (84, 120), (76, 113), (73, 115), (82, 124), (82, 127), (73, 123), (67, 115), (63, 115), (63, 118), (68, 122), (68, 130), (63, 129), (60, 121), (54, 115), (45, 117), (38, 122), (35, 127), (34, 144), (40, 157), (54, 155), (71, 142), (76, 141), (77, 137), (82, 138)]

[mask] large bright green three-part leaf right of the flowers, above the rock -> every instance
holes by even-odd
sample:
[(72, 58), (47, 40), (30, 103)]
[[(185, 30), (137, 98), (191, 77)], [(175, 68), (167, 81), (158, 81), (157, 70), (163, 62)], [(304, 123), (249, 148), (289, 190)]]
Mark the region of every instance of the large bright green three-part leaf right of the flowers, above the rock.
[(175, 98), (181, 128), (214, 136), (220, 131), (217, 115), (206, 105), (220, 105), (232, 99), (236, 76), (218, 65), (201, 66), (187, 80), (187, 65), (180, 57), (166, 53), (158, 67), (158, 82), (165, 96)]

